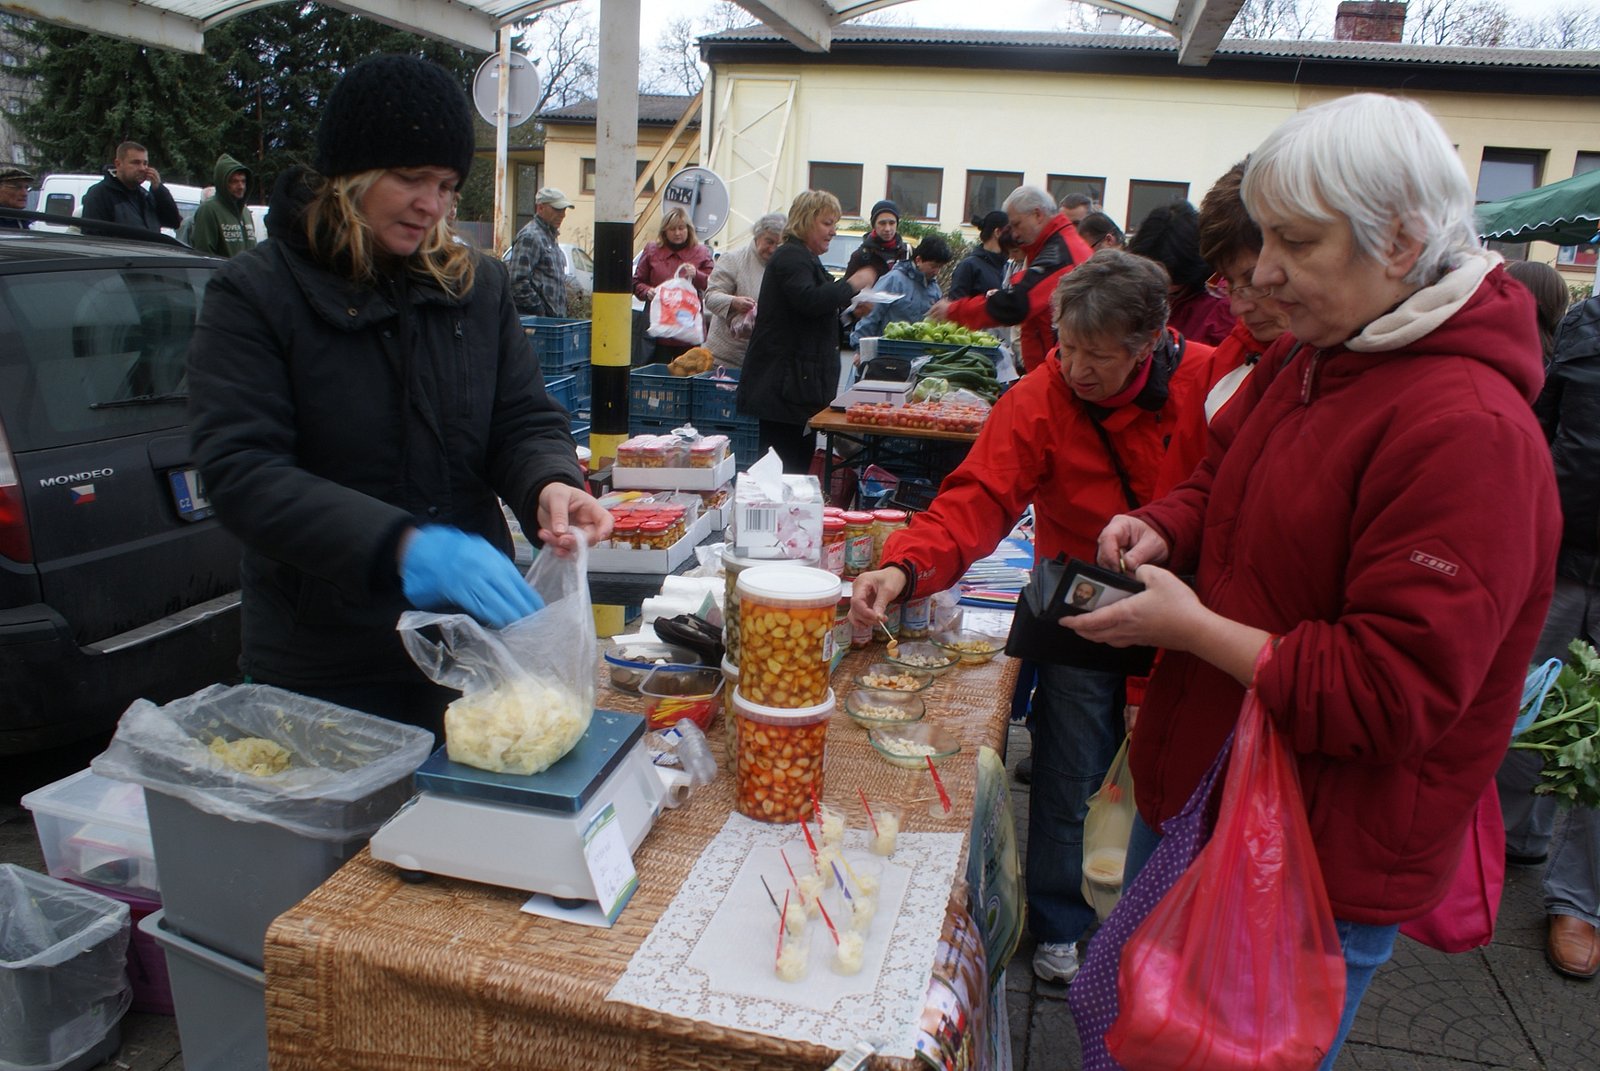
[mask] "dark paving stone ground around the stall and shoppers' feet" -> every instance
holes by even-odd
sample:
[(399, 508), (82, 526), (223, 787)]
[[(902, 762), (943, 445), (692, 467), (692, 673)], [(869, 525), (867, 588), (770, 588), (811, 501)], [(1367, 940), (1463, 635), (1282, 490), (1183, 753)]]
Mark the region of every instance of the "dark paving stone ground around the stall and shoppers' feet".
[[(1029, 736), (1011, 728), (1011, 768)], [(43, 871), (45, 861), (16, 796), (0, 802), (0, 861)], [(1027, 850), (1027, 786), (1011, 804)], [(1006, 972), (1013, 1071), (1074, 1071), (1080, 1065), (1067, 988), (1038, 981), (1032, 940)], [(1507, 871), (1494, 943), (1445, 956), (1400, 938), (1362, 1004), (1338, 1071), (1594, 1071), (1600, 1068), (1597, 983), (1562, 978), (1544, 962), (1539, 872)], [(123, 1020), (122, 1049), (94, 1071), (182, 1071), (178, 1028), (163, 1015)]]

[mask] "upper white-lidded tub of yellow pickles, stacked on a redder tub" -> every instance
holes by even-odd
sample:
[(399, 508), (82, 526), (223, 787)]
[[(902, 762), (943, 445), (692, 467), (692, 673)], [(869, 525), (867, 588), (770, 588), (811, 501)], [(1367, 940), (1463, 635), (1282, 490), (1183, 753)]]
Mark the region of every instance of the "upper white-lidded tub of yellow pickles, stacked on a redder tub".
[(838, 578), (806, 565), (757, 565), (734, 583), (739, 690), (750, 703), (814, 706), (827, 695)]

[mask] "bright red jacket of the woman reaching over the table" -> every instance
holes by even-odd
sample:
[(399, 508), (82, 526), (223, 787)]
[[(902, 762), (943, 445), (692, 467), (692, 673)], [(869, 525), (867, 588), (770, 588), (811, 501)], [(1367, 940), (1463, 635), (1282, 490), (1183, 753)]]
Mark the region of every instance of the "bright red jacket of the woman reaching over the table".
[[(1101, 424), (1139, 501), (1155, 493), (1155, 472), (1173, 442), (1179, 413), (1200, 407), (1198, 370), (1206, 357), (1210, 347), (1184, 343), (1170, 331), (1152, 357), (1160, 363), (1150, 371), (1152, 379), (1165, 378), (1165, 399), (1158, 397), (1158, 387), (1146, 386)], [(1155, 408), (1142, 408), (1141, 402)], [(1128, 499), (1091, 419), (1085, 402), (1062, 378), (1054, 351), (1000, 395), (978, 442), (946, 477), (933, 506), (883, 546), (885, 562), (904, 562), (914, 570), (917, 588), (906, 597), (931, 596), (958, 581), (968, 565), (1000, 544), (1029, 503), (1034, 503), (1040, 559), (1064, 552), (1093, 562), (1094, 540), (1112, 515), (1128, 511)], [(1198, 447), (1192, 450), (1198, 456)]]

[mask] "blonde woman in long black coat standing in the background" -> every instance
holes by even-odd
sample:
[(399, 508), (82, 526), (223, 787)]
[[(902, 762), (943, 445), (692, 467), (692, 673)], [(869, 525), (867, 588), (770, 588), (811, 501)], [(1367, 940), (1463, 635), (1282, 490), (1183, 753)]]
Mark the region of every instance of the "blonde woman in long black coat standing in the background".
[(838, 215), (838, 199), (827, 191), (795, 197), (782, 245), (762, 277), (755, 331), (744, 352), (739, 411), (760, 421), (762, 453), (774, 448), (784, 472), (811, 471), (806, 423), (838, 389), (838, 312), (878, 277), (870, 264), (838, 280), (822, 267)]

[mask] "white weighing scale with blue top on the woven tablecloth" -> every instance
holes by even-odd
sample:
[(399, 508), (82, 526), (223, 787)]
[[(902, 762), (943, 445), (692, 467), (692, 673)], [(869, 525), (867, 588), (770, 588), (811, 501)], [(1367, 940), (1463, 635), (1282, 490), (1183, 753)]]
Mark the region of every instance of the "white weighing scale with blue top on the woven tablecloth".
[(547, 893), (563, 908), (597, 898), (584, 832), (616, 807), (634, 852), (661, 813), (664, 783), (638, 714), (595, 711), (589, 730), (542, 773), (490, 773), (440, 748), (416, 775), (418, 796), (373, 834), (373, 858), (406, 880), (429, 874)]

